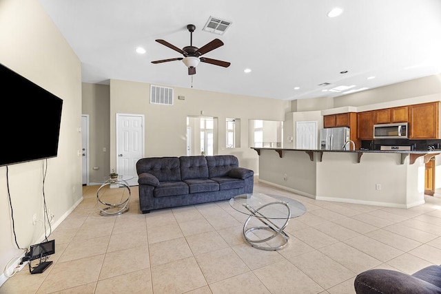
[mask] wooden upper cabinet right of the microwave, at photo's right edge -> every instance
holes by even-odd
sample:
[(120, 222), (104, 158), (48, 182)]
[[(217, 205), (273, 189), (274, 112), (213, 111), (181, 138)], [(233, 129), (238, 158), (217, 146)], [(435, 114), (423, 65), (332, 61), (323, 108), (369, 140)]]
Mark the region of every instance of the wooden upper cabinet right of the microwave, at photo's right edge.
[(439, 138), (439, 102), (409, 106), (409, 138)]

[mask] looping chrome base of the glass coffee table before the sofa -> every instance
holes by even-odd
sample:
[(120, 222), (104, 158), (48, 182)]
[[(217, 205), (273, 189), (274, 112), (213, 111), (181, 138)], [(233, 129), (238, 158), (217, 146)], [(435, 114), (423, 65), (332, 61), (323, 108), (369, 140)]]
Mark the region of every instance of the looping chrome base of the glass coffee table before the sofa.
[[(263, 209), (269, 205), (283, 205), (286, 207), (287, 216), (286, 216), (286, 219), (283, 219), (284, 223), (282, 224), (282, 226), (276, 224), (273, 220), (265, 217), (263, 215), (263, 213), (260, 212), (260, 209)], [(258, 209), (254, 209), (253, 207), (249, 206), (248, 204), (243, 204), (243, 207), (245, 207), (251, 213), (249, 215), (249, 217), (247, 218), (247, 220), (245, 221), (245, 224), (243, 224), (243, 238), (245, 238), (245, 241), (248, 244), (252, 245), (253, 247), (256, 247), (257, 249), (271, 250), (271, 251), (283, 249), (283, 247), (285, 247), (287, 245), (288, 240), (289, 240), (289, 235), (287, 235), (287, 233), (285, 233), (283, 231), (285, 229), (285, 227), (287, 227), (289, 219), (291, 218), (291, 209), (289, 209), (289, 205), (287, 204), (287, 202), (283, 202), (283, 201), (270, 202), (270, 203), (267, 203), (267, 204), (259, 207)], [(247, 228), (247, 224), (253, 218), (255, 218), (256, 220), (259, 220), (260, 222), (265, 224), (265, 227), (256, 226), (256, 227)], [(252, 233), (253, 231), (261, 231), (261, 230), (269, 231), (272, 233), (272, 235), (269, 235), (269, 237), (267, 237), (267, 238), (260, 238), (260, 239), (249, 238), (249, 236), (248, 236), (249, 233)], [(270, 246), (269, 244), (263, 244), (263, 243), (271, 241), (275, 238), (281, 239), (280, 245)]]

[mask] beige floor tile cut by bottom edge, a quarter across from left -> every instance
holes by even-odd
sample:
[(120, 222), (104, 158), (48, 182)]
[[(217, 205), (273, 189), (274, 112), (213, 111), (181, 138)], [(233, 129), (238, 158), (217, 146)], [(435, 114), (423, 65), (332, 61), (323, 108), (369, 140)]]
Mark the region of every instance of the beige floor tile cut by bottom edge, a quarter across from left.
[(150, 269), (133, 271), (132, 273), (101, 280), (96, 284), (94, 293), (153, 293)]

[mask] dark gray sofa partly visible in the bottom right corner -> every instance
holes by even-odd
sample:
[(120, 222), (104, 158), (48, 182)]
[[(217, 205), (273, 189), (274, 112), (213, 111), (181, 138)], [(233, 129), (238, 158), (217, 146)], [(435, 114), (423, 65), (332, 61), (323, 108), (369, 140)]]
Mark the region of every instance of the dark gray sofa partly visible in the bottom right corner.
[(357, 294), (441, 293), (441, 266), (427, 266), (413, 275), (387, 269), (371, 269), (357, 275)]

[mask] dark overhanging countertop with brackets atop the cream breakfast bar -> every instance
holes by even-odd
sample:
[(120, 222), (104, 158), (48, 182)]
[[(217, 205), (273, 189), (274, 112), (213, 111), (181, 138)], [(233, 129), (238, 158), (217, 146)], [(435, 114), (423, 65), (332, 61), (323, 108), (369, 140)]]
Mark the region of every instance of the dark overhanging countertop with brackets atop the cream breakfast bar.
[(251, 147), (252, 149), (257, 151), (257, 154), (260, 155), (261, 149), (274, 150), (276, 151), (280, 158), (283, 158), (284, 151), (303, 151), (309, 155), (311, 161), (314, 161), (314, 154), (318, 155), (318, 160), (321, 162), (323, 153), (326, 152), (339, 152), (339, 153), (352, 153), (357, 154), (357, 162), (360, 163), (361, 156), (365, 153), (381, 153), (381, 154), (401, 154), (401, 164), (404, 164), (404, 160), (409, 156), (409, 164), (413, 165), (416, 159), (424, 156), (424, 163), (429, 162), (430, 158), (433, 156), (437, 156), (441, 153), (441, 150), (320, 150), (320, 149), (284, 149), (284, 148), (260, 148), (260, 147)]

